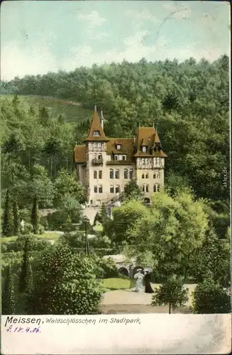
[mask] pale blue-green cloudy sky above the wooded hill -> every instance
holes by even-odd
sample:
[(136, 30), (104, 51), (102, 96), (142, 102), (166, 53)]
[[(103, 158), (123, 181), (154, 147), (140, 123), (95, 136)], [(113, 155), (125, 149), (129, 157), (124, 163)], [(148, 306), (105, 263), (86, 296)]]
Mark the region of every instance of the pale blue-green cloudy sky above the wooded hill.
[(216, 60), (229, 54), (226, 1), (4, 1), (1, 80), (81, 66)]

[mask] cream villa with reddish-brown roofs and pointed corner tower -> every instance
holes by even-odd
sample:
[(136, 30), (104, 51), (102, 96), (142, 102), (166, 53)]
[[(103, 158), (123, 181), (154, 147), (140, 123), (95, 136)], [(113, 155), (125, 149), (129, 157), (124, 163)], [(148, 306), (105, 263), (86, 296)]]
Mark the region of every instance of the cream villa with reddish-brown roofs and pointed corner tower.
[(153, 127), (140, 127), (134, 138), (106, 137), (96, 107), (87, 138), (74, 147), (77, 176), (88, 206), (117, 200), (131, 179), (136, 179), (145, 201), (150, 202), (164, 184), (166, 157)]

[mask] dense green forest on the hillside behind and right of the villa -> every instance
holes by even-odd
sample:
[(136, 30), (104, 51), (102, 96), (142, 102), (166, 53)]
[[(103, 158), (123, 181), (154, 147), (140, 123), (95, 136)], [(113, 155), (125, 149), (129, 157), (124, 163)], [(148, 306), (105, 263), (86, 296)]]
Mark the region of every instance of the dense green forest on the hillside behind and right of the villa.
[[(123, 61), (80, 67), (73, 72), (16, 77), (10, 82), (1, 82), (1, 93), (56, 97), (93, 108), (94, 82), (96, 104), (104, 110), (104, 129), (108, 136), (133, 136), (139, 124), (152, 126), (155, 122), (168, 155), (167, 175), (171, 171), (180, 175), (192, 185), (198, 197), (228, 199), (228, 188), (223, 186), (223, 167), (227, 167), (229, 173), (226, 55), (212, 63), (204, 59), (196, 62), (193, 58), (181, 63), (143, 59), (137, 63)], [(9, 127), (4, 134), (4, 144), (13, 129), (6, 106), (4, 104), (4, 117)], [(89, 119), (87, 110), (87, 123)], [(20, 129), (20, 123), (17, 127)], [(72, 142), (80, 143), (84, 133), (85, 125), (78, 134), (73, 131)], [(52, 136), (54, 143), (57, 139), (54, 132)], [(71, 149), (72, 144), (67, 148)], [(177, 180), (174, 178), (173, 183)]]

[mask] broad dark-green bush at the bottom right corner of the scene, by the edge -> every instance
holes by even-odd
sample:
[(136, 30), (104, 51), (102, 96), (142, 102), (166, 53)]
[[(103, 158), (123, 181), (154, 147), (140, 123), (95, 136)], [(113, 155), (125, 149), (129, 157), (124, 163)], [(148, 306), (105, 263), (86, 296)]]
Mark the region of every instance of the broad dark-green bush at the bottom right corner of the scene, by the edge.
[(226, 294), (226, 290), (223, 290), (219, 283), (210, 277), (199, 283), (192, 295), (192, 312), (194, 313), (231, 312), (231, 297)]

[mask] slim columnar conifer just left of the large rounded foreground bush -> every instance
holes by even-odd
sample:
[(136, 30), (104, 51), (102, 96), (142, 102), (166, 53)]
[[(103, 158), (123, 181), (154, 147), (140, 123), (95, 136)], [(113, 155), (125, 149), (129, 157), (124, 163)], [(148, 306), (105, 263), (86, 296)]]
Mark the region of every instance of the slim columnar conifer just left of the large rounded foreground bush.
[(23, 261), (21, 264), (21, 272), (19, 275), (19, 292), (31, 293), (33, 289), (33, 273), (31, 268), (31, 260), (29, 252), (31, 250), (31, 241), (26, 237), (23, 247)]

